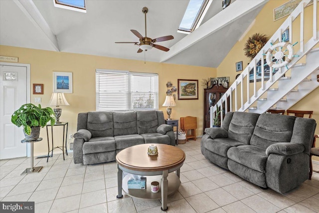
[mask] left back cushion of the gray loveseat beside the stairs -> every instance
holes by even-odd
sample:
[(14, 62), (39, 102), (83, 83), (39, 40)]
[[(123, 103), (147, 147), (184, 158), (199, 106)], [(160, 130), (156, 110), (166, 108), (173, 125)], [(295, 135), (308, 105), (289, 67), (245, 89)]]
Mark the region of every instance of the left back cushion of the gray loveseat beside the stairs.
[(259, 115), (257, 113), (234, 112), (228, 127), (228, 138), (249, 144)]

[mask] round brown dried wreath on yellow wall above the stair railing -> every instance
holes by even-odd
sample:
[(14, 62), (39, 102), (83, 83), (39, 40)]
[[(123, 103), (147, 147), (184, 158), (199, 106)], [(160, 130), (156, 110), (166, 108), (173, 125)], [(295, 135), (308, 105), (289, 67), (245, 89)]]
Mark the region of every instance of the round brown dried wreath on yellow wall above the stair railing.
[(250, 36), (244, 47), (244, 52), (247, 57), (250, 59), (253, 59), (257, 53), (263, 48), (263, 46), (267, 43), (269, 40), (268, 36), (265, 34), (259, 34), (255, 33), (252, 36)]

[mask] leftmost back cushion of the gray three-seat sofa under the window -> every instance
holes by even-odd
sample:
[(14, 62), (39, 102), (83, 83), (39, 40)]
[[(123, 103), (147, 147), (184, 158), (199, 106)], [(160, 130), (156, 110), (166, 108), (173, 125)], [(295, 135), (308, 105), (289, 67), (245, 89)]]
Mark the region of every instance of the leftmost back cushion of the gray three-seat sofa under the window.
[(112, 112), (88, 112), (87, 130), (92, 137), (114, 136)]

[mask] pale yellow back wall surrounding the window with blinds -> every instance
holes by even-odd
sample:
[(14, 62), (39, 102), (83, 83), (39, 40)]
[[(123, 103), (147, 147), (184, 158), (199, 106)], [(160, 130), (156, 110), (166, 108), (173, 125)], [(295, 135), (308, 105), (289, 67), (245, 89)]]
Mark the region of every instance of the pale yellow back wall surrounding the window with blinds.
[[(156, 50), (155, 50), (156, 51)], [(129, 70), (132, 72), (150, 72), (159, 74), (159, 109), (164, 111), (167, 118), (166, 107), (162, 107), (166, 96), (166, 83), (171, 81), (177, 87), (177, 79), (198, 80), (198, 100), (178, 100), (176, 94), (176, 106), (172, 107), (171, 118), (178, 119), (184, 116), (197, 117), (197, 131), (199, 136), (203, 128), (203, 89), (201, 85), (203, 78), (216, 77), (216, 68), (165, 64), (156, 62), (146, 62), (138, 60), (127, 60), (94, 55), (74, 54), (65, 52), (53, 52), (36, 49), (27, 49), (11, 46), (0, 46), (0, 54), (4, 56), (14, 56), (19, 58), (19, 63), (31, 64), (31, 91), (33, 83), (44, 84), (43, 95), (32, 95), (31, 103), (35, 97), (42, 100), (41, 106), (46, 107), (53, 87), (53, 71), (73, 73), (73, 93), (65, 93), (65, 97), (70, 106), (62, 106), (61, 121), (69, 122), (69, 133), (76, 132), (77, 114), (79, 112), (95, 111), (95, 69), (116, 69)], [(56, 129), (56, 136), (59, 131)], [(21, 130), (22, 131), (22, 130)], [(62, 129), (60, 129), (62, 131)], [(43, 155), (47, 152), (46, 131), (41, 129), (41, 143), (34, 146), (35, 155)], [(57, 139), (55, 139), (57, 142)], [(56, 146), (56, 144), (54, 144)]]

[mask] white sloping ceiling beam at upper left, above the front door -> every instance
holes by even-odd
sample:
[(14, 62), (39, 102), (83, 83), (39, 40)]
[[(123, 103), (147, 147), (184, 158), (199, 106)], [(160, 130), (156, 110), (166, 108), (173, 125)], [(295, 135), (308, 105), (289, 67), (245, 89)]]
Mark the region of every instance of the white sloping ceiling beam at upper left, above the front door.
[(35, 6), (32, 0), (13, 0), (16, 5), (21, 9), (21, 11), (26, 15), (26, 17), (34, 24), (35, 27), (42, 30), (49, 40), (50, 44), (56, 51), (60, 51), (58, 40), (55, 34), (52, 32), (48, 23), (45, 21), (44, 17)]

